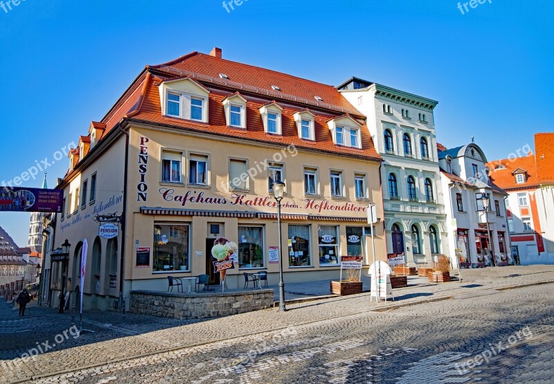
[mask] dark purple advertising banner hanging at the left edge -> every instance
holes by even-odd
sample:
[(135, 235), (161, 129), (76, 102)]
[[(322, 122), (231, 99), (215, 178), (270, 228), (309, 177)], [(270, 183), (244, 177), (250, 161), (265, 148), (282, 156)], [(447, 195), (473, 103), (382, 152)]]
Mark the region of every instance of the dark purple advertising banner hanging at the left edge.
[(9, 188), (0, 189), (0, 211), (54, 212), (62, 211), (64, 191), (57, 189)]

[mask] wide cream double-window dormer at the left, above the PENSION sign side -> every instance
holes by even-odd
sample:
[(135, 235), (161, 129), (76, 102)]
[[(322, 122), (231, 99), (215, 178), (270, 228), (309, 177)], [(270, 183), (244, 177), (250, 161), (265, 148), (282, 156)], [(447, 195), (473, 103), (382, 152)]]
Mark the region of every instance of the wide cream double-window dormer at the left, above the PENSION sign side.
[(163, 116), (208, 122), (208, 89), (191, 78), (166, 80), (158, 87)]

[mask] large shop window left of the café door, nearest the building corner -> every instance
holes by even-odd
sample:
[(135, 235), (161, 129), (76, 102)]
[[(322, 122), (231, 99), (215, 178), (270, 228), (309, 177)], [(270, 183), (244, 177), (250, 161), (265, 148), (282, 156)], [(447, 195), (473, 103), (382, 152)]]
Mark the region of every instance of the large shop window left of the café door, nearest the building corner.
[(188, 271), (188, 224), (154, 225), (154, 272)]

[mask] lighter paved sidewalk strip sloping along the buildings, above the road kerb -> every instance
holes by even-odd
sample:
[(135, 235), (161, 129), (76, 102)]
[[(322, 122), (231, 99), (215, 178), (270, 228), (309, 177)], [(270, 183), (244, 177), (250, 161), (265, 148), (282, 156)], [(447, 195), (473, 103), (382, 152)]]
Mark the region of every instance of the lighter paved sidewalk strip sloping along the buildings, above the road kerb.
[[(466, 270), (463, 271), (463, 278), (463, 283), (425, 284), (394, 290), (397, 303), (392, 306), (444, 300), (483, 290), (551, 283), (554, 282), (554, 267), (542, 265)], [(64, 340), (61, 347), (58, 346), (60, 349), (40, 354), (17, 369), (4, 370), (0, 381), (28, 381), (30, 378), (55, 376), (80, 369), (97, 369), (107, 363), (171, 354), (195, 345), (204, 345), (205, 349), (217, 340), (228, 339), (233, 342), (239, 337), (267, 333), (287, 326), (309, 325), (357, 314), (367, 315), (368, 311), (384, 311), (391, 308), (391, 303), (370, 304), (368, 294), (361, 294), (294, 304), (288, 308), (286, 313), (269, 309), (213, 320), (188, 321), (133, 314), (86, 313), (84, 325), (96, 333), (84, 333), (80, 338)], [(4, 362), (21, 356), (35, 347), (37, 342), (53, 340), (55, 335), (72, 325), (69, 315), (60, 316), (51, 308), (31, 306), (28, 315), (24, 320), (18, 319), (12, 310), (3, 316), (6, 321), (0, 321), (0, 357)], [(32, 331), (18, 332), (26, 329)]]

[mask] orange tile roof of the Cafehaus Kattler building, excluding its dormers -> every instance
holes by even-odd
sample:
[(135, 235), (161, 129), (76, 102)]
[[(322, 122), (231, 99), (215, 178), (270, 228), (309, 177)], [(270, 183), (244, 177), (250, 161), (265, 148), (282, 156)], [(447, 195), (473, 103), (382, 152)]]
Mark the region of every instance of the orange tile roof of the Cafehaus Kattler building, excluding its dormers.
[[(219, 77), (225, 73), (229, 80)], [(208, 124), (162, 116), (158, 86), (161, 82), (189, 77), (209, 89)], [(281, 91), (273, 91), (277, 85)], [(222, 101), (240, 91), (247, 100), (247, 129), (229, 128), (226, 124)], [(323, 98), (318, 102), (314, 96)], [(282, 136), (266, 134), (259, 109), (275, 101), (282, 111)], [(310, 107), (315, 114), (315, 141), (298, 138), (293, 114)], [(326, 122), (350, 114), (361, 126), (362, 148), (335, 146)], [(202, 132), (217, 137), (231, 137), (260, 143), (316, 150), (380, 161), (362, 116), (332, 85), (297, 78), (269, 69), (231, 62), (203, 53), (189, 53), (177, 60), (156, 66), (147, 66), (106, 114), (101, 123), (106, 125), (104, 135), (122, 119), (180, 128), (189, 132)]]

